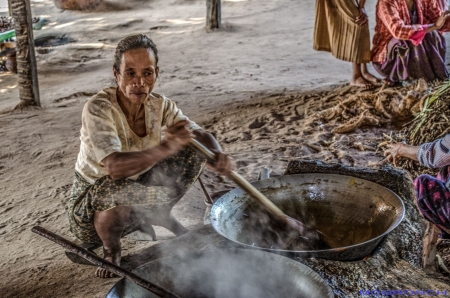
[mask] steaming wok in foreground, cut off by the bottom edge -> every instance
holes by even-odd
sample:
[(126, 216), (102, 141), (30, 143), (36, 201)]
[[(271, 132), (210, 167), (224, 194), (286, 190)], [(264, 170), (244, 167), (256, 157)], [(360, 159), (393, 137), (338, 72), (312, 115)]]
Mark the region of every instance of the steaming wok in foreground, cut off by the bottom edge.
[[(180, 297), (331, 298), (325, 281), (309, 267), (283, 256), (248, 249), (204, 250), (165, 257), (133, 273)], [(158, 297), (120, 280), (106, 298)]]

